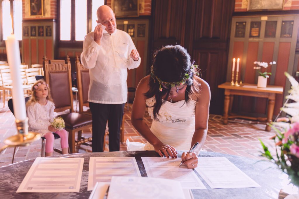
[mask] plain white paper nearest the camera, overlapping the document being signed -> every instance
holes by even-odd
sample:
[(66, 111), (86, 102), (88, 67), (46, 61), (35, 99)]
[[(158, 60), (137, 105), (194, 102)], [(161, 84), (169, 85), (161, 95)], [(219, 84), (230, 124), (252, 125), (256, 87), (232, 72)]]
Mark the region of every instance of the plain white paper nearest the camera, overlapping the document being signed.
[(185, 199), (178, 181), (147, 177), (112, 177), (107, 199)]

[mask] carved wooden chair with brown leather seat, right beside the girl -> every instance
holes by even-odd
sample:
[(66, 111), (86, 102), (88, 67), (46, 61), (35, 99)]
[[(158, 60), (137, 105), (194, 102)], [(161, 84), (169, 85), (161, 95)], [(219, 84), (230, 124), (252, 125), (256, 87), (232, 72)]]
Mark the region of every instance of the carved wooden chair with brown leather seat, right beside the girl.
[(71, 153), (75, 153), (75, 146), (83, 141), (75, 141), (75, 132), (81, 133), (86, 127), (91, 127), (92, 118), (90, 115), (73, 112), (73, 93), (71, 84), (71, 62), (67, 56), (64, 60), (49, 60), (44, 55), (43, 68), (45, 81), (51, 88), (51, 95), (55, 104), (55, 111), (69, 110), (70, 113), (59, 115), (65, 121), (65, 130), (68, 134), (68, 144)]

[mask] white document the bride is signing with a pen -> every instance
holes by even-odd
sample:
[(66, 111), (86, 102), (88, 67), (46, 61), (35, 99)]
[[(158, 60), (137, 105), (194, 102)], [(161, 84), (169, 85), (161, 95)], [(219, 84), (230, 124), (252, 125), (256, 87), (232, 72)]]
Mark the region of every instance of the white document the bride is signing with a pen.
[(199, 180), (193, 169), (179, 167), (181, 158), (147, 158), (141, 157), (147, 177), (165, 178), (181, 183), (183, 189), (207, 189)]

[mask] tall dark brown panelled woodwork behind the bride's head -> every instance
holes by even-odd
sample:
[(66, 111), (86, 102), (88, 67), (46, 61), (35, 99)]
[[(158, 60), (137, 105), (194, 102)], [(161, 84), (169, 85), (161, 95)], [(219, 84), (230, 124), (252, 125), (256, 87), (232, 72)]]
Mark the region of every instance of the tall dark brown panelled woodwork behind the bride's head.
[[(222, 114), (234, 0), (153, 0), (152, 49), (181, 44), (211, 89), (210, 112)], [(204, 97), (204, 96), (203, 96)]]

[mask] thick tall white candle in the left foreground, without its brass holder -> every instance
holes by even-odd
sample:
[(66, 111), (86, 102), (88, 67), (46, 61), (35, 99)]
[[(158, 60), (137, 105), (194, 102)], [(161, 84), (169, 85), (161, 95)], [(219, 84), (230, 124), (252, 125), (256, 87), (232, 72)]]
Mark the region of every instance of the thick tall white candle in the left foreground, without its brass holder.
[(17, 120), (26, 119), (26, 107), (25, 107), (25, 98), (24, 90), (22, 89), (22, 78), (21, 78), (21, 58), (20, 58), (20, 48), (19, 41), (16, 40), (16, 37), (12, 34), (7, 36), (5, 41), (6, 52), (7, 52), (7, 61), (10, 67), (10, 76), (12, 79), (12, 95), (13, 95), (13, 110), (14, 115)]

